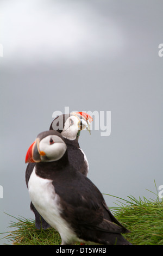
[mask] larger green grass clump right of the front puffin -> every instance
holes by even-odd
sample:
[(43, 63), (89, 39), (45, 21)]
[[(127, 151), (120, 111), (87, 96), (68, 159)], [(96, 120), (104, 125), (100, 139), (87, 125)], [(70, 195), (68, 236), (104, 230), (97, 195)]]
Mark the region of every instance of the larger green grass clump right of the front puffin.
[(131, 231), (123, 236), (133, 245), (163, 245), (163, 202), (128, 198), (130, 201), (112, 209), (118, 221)]

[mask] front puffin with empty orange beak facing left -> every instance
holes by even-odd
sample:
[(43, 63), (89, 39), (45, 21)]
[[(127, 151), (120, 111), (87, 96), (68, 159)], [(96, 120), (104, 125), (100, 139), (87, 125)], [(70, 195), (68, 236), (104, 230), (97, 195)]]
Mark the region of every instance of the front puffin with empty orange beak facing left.
[(61, 133), (39, 133), (26, 154), (35, 162), (28, 182), (35, 209), (61, 236), (61, 245), (76, 242), (131, 245), (123, 233), (130, 232), (111, 214), (95, 184), (74, 168)]

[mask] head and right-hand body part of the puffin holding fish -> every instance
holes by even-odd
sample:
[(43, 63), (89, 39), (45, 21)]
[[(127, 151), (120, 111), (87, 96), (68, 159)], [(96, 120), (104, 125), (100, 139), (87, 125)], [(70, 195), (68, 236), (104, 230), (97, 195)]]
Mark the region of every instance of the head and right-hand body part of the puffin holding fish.
[(60, 132), (65, 138), (70, 163), (84, 175), (89, 171), (89, 163), (84, 151), (79, 147), (78, 140), (81, 130), (86, 128), (90, 132), (92, 120), (92, 117), (85, 112), (63, 114), (55, 118), (49, 128)]

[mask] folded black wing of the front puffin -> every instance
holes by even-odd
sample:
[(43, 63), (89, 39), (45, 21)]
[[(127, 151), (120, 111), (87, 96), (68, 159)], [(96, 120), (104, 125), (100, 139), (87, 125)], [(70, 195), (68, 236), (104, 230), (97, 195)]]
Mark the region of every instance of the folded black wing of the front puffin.
[(53, 179), (53, 185), (60, 196), (62, 217), (74, 229), (85, 227), (110, 233), (128, 232), (111, 214), (102, 193), (80, 172), (60, 172)]

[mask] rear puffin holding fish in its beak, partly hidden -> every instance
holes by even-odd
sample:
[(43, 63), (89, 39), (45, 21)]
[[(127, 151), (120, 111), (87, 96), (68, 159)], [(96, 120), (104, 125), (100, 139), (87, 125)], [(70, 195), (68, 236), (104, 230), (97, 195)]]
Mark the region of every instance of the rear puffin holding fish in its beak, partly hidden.
[[(62, 114), (56, 117), (49, 130), (55, 130), (61, 133), (62, 137), (65, 138), (67, 148), (68, 148), (68, 159), (70, 163), (79, 170), (84, 175), (87, 175), (89, 171), (89, 163), (87, 161), (86, 155), (79, 146), (79, 136), (80, 131), (85, 128), (90, 131), (90, 123), (92, 121), (91, 115), (85, 112), (72, 112), (69, 114)], [(26, 168), (26, 185), (28, 188), (28, 182), (30, 175), (35, 167), (35, 162), (28, 163)], [(39, 212), (35, 209), (33, 203), (30, 203), (30, 209), (35, 215), (35, 226), (37, 229), (43, 228), (47, 229), (50, 225), (40, 216)]]

